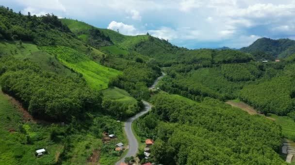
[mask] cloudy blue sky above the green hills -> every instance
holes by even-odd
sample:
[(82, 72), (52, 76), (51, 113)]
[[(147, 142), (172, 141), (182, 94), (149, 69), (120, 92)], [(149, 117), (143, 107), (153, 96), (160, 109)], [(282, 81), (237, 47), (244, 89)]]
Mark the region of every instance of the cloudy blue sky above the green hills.
[(295, 39), (295, 0), (0, 0), (22, 14), (53, 13), (121, 34), (147, 32), (189, 49)]

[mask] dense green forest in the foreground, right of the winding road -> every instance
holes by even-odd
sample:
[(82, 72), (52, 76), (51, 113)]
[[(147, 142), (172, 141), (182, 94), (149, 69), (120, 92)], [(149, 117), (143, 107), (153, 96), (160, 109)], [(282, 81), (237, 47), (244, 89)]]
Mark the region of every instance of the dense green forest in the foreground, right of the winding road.
[(164, 165), (278, 165), (279, 126), (261, 116), (209, 97), (202, 103), (161, 93), (136, 122), (138, 132), (155, 139), (151, 161)]

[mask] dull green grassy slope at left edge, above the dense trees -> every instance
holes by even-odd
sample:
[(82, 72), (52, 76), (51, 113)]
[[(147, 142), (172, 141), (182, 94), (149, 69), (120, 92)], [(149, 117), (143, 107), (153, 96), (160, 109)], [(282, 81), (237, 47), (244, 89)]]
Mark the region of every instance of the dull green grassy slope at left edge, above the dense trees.
[(58, 59), (53, 55), (49, 55), (38, 49), (38, 47), (30, 42), (24, 42), (21, 45), (18, 41), (0, 41), (0, 55), (13, 55), (19, 59), (30, 59), (41, 68), (63, 75), (74, 75), (70, 69), (67, 69)]

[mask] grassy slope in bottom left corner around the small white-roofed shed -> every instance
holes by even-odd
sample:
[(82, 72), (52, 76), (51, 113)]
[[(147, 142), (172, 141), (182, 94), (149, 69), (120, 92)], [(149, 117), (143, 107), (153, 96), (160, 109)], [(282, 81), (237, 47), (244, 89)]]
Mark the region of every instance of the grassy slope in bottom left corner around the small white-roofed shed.
[[(21, 133), (23, 127), (26, 133)], [(10, 98), (0, 92), (0, 164), (30, 165), (54, 164), (63, 150), (63, 145), (49, 139), (50, 125), (41, 126), (23, 120), (23, 115)], [(16, 132), (9, 132), (14, 130)], [(27, 145), (27, 137), (33, 141)], [(36, 149), (45, 148), (48, 152), (40, 158), (34, 156)]]

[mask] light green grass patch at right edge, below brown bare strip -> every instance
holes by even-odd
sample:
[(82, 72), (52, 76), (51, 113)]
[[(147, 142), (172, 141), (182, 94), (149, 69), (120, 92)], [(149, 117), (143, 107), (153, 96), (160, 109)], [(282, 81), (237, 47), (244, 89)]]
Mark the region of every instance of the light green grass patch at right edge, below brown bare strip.
[(272, 117), (277, 124), (282, 127), (282, 135), (285, 138), (295, 140), (295, 122), (288, 116), (278, 116), (272, 113), (269, 113), (269, 117)]

